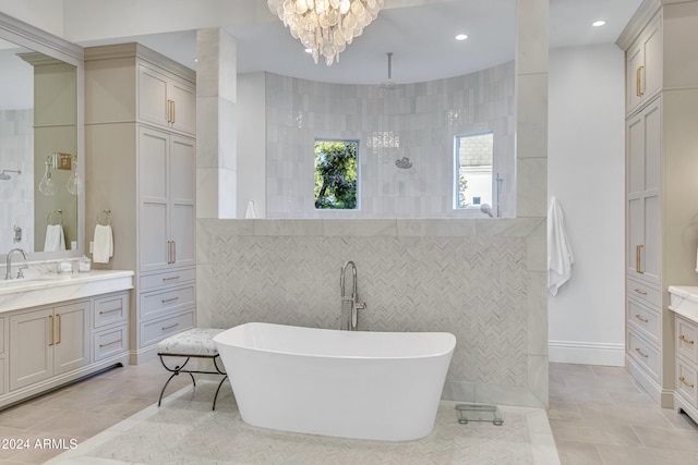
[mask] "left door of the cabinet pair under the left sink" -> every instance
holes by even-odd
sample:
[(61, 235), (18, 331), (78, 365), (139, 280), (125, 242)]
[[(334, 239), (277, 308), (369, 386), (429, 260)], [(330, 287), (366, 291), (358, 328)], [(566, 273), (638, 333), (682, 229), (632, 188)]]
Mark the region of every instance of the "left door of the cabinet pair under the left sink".
[(10, 390), (53, 376), (53, 309), (10, 317)]

